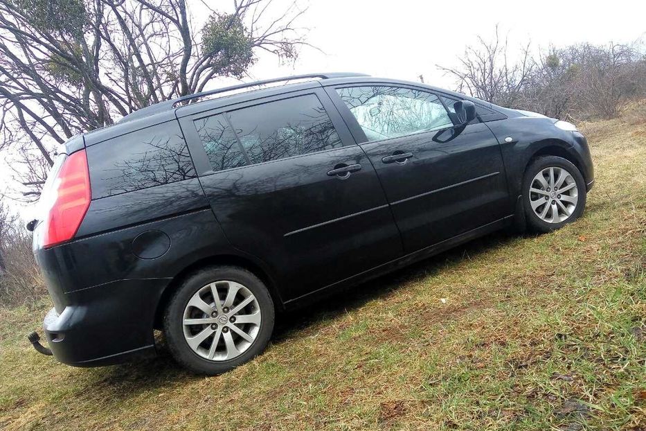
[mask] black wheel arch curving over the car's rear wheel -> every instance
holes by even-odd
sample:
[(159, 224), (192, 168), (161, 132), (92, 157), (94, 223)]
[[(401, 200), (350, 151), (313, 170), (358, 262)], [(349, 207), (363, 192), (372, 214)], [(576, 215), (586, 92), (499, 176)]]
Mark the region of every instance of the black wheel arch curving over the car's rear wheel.
[(177, 287), (181, 284), (181, 282), (184, 281), (193, 272), (200, 270), (201, 268), (214, 266), (214, 265), (237, 266), (252, 272), (264, 283), (264, 285), (267, 286), (267, 289), (269, 290), (269, 294), (271, 294), (271, 299), (273, 300), (273, 304), (276, 307), (276, 311), (283, 310), (285, 308), (282, 302), (282, 298), (280, 297), (280, 292), (278, 292), (278, 286), (276, 285), (276, 282), (274, 281), (273, 277), (269, 275), (267, 270), (264, 270), (260, 264), (254, 262), (250, 258), (246, 258), (244, 256), (237, 256), (234, 254), (221, 254), (216, 256), (207, 256), (204, 258), (200, 258), (197, 261), (192, 262), (190, 265), (184, 267), (179, 273), (177, 273), (177, 275), (175, 275), (172, 278), (170, 283), (168, 283), (166, 288), (163, 290), (161, 297), (159, 298), (159, 301), (157, 301), (157, 305), (155, 309), (155, 315), (154, 315), (155, 329), (161, 328), (161, 320), (163, 317), (163, 312), (166, 306), (168, 305), (168, 301), (170, 301), (170, 297), (172, 297), (172, 294), (175, 292), (175, 290), (177, 290)]

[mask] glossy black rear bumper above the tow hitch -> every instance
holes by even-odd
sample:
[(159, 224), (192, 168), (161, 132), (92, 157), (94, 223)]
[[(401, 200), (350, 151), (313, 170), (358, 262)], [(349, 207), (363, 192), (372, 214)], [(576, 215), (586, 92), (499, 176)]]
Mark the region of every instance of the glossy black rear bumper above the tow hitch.
[(120, 280), (71, 292), (52, 308), (43, 330), (54, 357), (75, 367), (100, 367), (155, 355), (154, 304), (165, 279)]

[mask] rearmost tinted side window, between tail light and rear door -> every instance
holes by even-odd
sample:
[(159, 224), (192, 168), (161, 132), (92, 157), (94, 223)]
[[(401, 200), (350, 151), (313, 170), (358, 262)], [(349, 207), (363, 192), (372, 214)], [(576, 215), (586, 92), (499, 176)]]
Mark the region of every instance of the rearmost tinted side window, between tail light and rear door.
[(177, 121), (87, 148), (92, 197), (105, 197), (195, 177)]

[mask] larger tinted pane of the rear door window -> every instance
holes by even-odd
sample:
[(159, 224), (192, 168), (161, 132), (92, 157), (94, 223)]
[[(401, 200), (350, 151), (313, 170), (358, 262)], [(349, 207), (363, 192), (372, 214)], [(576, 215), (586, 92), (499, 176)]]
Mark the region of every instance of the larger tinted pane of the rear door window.
[(341, 147), (328, 113), (314, 94), (227, 115), (252, 164)]

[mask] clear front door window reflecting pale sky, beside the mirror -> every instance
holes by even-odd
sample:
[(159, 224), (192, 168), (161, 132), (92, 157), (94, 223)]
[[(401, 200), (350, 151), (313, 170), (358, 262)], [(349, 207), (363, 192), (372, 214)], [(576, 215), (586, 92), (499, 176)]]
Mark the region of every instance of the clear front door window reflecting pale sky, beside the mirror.
[(371, 85), (337, 89), (370, 141), (451, 127), (453, 122), (435, 94)]

